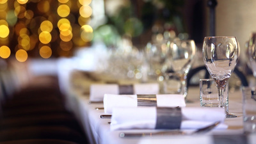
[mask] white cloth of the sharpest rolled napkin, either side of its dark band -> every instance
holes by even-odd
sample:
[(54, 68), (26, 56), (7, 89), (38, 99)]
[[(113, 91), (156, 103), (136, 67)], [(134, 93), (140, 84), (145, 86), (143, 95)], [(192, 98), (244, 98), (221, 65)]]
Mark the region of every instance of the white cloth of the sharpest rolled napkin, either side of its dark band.
[[(222, 108), (181, 108), (180, 129), (200, 129), (220, 121), (216, 129), (227, 129), (223, 124), (225, 109)], [(113, 108), (111, 130), (117, 129), (155, 129), (156, 107)]]

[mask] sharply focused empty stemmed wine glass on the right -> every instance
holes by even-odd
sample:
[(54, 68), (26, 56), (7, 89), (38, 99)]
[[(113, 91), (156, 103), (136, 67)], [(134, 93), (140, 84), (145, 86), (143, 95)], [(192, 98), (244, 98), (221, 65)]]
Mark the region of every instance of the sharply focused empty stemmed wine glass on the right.
[(238, 59), (238, 43), (234, 36), (207, 36), (204, 38), (203, 58), (205, 66), (218, 88), (220, 108), (225, 108), (226, 117), (236, 117), (228, 114), (227, 104), (224, 104), (223, 92), (225, 85), (236, 67)]

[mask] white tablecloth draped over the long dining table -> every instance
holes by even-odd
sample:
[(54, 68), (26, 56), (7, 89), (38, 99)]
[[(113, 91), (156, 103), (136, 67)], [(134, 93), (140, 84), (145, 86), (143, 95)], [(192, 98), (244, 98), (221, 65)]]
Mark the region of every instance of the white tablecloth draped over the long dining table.
[[(186, 107), (198, 107), (199, 88), (191, 87), (188, 92), (188, 102)], [(142, 137), (142, 138), (120, 138), (120, 132), (155, 132), (157, 130), (125, 130), (125, 131), (110, 131), (110, 118), (100, 118), (104, 115), (102, 103), (89, 104), (89, 95), (85, 95), (79, 88), (72, 88), (68, 93), (68, 99), (72, 111), (76, 113), (83, 124), (88, 138), (91, 143), (99, 144), (128, 144), (128, 143), (213, 143), (213, 134), (243, 134), (243, 114), (241, 104), (241, 91), (229, 93), (229, 112), (237, 115), (237, 118), (226, 118), (225, 124), (228, 125), (227, 130), (213, 130), (204, 135), (199, 136), (161, 136), (161, 137)], [(186, 137), (186, 138), (184, 138)], [(254, 138), (254, 137), (253, 137)], [(192, 142), (191, 142), (192, 141)]]

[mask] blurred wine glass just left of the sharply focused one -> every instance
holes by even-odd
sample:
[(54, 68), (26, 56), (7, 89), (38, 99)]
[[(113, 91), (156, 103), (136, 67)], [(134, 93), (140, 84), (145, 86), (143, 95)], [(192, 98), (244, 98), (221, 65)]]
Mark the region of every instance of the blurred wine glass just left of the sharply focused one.
[[(166, 73), (165, 90), (168, 92), (172, 90), (172, 86), (180, 86), (176, 89), (177, 93), (186, 96), (188, 95), (187, 90), (187, 74), (193, 63), (196, 54), (196, 45), (194, 40), (173, 40), (167, 43), (169, 47), (167, 60), (170, 61), (171, 72)], [(178, 84), (173, 84), (173, 79), (177, 79)], [(170, 81), (170, 84), (168, 84)], [(175, 90), (174, 90), (175, 91)]]

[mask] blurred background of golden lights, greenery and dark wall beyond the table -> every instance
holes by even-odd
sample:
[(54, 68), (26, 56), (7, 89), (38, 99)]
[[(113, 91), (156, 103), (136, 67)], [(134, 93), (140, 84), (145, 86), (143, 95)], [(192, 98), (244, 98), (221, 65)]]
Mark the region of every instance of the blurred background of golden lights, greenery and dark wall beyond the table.
[[(252, 74), (245, 51), (256, 30), (256, 1), (217, 2), (216, 36), (236, 36), (238, 67)], [(122, 73), (120, 68), (115, 70), (115, 63), (125, 69), (125, 76), (136, 79), (141, 79), (143, 65), (134, 67), (145, 62), (141, 51), (148, 42), (195, 40), (198, 50), (193, 67), (204, 65), (202, 42), (210, 35), (211, 25), (208, 0), (0, 0), (0, 12), (3, 61), (78, 58), (73, 65), (83, 70), (108, 68), (111, 73)], [(130, 64), (124, 65), (125, 61)]]

